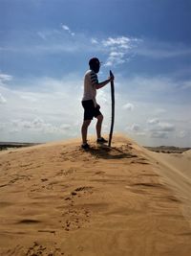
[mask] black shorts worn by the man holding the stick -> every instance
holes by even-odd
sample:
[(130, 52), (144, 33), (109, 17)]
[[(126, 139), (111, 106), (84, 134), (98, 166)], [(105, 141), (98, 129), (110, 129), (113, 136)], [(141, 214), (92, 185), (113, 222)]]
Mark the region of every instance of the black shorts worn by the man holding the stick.
[(95, 107), (93, 100), (82, 101), (81, 104), (84, 108), (84, 120), (93, 120), (94, 117), (101, 115), (101, 112), (99, 111), (100, 106), (97, 105)]

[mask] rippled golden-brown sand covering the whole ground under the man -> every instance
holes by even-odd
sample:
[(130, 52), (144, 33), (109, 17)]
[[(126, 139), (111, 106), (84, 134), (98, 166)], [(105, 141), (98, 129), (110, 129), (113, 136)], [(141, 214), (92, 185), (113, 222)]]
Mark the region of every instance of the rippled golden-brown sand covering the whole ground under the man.
[(90, 143), (0, 153), (0, 255), (189, 256), (191, 151)]

